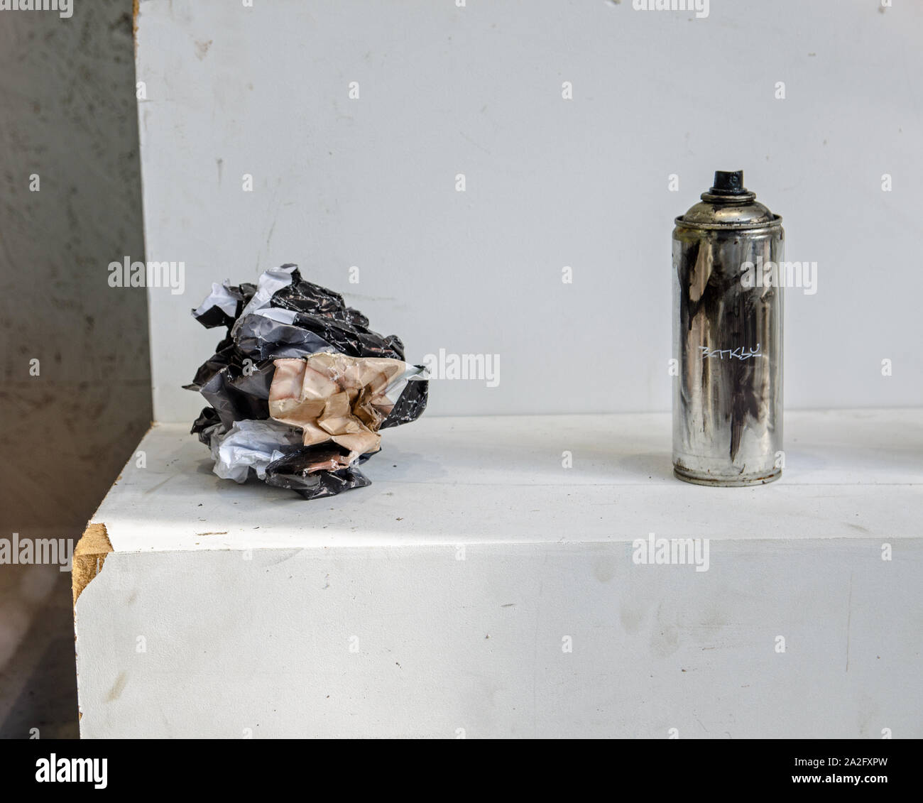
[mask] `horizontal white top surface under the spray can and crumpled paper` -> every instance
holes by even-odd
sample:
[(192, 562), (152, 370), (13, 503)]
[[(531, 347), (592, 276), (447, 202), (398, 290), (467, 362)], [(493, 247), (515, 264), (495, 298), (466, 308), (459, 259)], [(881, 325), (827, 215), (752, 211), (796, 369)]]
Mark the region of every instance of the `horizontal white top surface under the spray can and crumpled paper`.
[(188, 429), (154, 425), (97, 510), (115, 552), (923, 530), (923, 410), (786, 413), (782, 478), (746, 488), (675, 479), (665, 413), (424, 415), (382, 433), (373, 485), (310, 501), (219, 479)]

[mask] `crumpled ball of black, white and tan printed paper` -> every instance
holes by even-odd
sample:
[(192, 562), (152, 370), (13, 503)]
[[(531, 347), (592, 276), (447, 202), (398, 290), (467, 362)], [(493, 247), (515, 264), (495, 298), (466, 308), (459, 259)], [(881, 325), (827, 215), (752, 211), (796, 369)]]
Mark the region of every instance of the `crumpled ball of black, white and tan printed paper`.
[(426, 368), (404, 362), (401, 339), (370, 330), (295, 265), (212, 284), (192, 314), (227, 328), (184, 386), (209, 402), (192, 432), (224, 479), (255, 476), (306, 499), (370, 485), (358, 466), (381, 449), (379, 431), (426, 409)]

